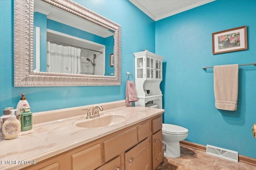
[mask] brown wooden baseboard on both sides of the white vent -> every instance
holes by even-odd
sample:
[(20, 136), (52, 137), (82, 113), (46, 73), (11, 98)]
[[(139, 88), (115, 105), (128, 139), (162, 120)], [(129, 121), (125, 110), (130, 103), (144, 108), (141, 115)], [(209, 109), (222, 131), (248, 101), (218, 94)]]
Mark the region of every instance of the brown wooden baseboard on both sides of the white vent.
[[(206, 152), (206, 146), (204, 146), (204, 145), (199, 145), (199, 144), (188, 142), (188, 141), (180, 141), (180, 145)], [(246, 164), (256, 166), (256, 159), (254, 159), (254, 158), (250, 158), (248, 156), (238, 154), (238, 160), (241, 162), (244, 162)]]

